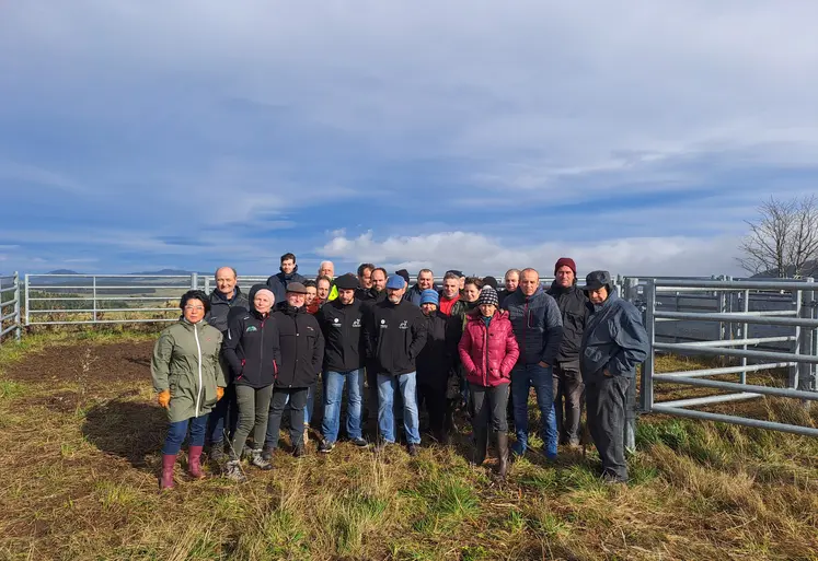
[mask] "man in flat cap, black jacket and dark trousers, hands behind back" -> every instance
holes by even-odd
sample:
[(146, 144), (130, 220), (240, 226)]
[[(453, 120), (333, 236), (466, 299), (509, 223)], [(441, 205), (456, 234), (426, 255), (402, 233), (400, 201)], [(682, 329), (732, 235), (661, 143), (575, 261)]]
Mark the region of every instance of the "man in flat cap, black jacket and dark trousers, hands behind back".
[(308, 388), (318, 379), (324, 359), (324, 336), (315, 316), (304, 307), (307, 288), (300, 282), (287, 284), (287, 304), (273, 314), (278, 327), (281, 363), (273, 389), (264, 459), (278, 447), (281, 413), (289, 397), (290, 439), (296, 457), (303, 456), (303, 423)]

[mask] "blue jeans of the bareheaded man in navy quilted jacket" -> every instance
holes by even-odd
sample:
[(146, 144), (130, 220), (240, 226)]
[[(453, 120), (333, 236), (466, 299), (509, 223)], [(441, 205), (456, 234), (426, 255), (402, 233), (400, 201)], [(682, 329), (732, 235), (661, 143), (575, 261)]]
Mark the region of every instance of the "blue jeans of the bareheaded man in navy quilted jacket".
[(517, 364), (511, 371), (511, 395), (514, 395), (514, 424), (517, 431), (516, 454), (522, 455), (528, 448), (528, 394), (533, 386), (537, 407), (542, 418), (540, 437), (545, 456), (556, 457), (556, 414), (554, 412), (554, 383), (551, 367), (539, 364)]

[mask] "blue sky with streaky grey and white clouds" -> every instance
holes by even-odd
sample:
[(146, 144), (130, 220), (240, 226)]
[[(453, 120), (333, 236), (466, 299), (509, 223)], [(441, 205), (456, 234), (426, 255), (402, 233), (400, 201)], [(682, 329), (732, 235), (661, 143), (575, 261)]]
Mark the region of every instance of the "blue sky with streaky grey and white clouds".
[(0, 272), (740, 274), (818, 2), (0, 3)]

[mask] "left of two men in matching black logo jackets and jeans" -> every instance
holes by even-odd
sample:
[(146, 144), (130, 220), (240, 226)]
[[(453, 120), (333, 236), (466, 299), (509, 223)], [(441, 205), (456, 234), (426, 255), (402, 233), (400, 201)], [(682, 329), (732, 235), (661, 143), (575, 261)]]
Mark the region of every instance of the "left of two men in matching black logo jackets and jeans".
[(364, 309), (355, 299), (358, 280), (354, 274), (342, 274), (335, 280), (338, 297), (324, 304), (315, 318), (324, 334), (324, 420), (321, 423), (323, 441), (319, 452), (330, 453), (338, 440), (341, 401), (347, 386), (346, 433), (359, 447), (366, 447), (360, 429), (361, 399), (364, 395)]

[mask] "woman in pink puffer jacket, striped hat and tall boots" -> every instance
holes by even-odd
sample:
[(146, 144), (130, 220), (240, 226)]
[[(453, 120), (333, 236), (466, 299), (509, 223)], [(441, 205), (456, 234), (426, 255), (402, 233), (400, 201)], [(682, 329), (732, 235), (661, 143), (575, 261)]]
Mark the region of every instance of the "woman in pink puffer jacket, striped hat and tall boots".
[(492, 287), (484, 287), (477, 307), (466, 315), (458, 349), (474, 411), (474, 464), (480, 466), (486, 458), (491, 420), (497, 439), (498, 474), (503, 479), (508, 470), (508, 386), (520, 350), (508, 312), (497, 309), (497, 292)]

